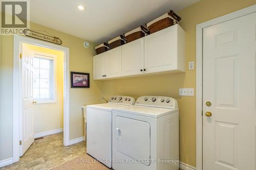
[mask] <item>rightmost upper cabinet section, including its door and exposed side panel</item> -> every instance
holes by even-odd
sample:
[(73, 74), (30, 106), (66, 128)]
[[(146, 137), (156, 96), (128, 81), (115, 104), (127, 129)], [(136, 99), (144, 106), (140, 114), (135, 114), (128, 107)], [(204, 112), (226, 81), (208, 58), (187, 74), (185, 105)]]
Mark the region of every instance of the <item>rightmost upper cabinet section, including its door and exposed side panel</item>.
[(144, 37), (145, 73), (185, 71), (185, 32), (179, 25)]

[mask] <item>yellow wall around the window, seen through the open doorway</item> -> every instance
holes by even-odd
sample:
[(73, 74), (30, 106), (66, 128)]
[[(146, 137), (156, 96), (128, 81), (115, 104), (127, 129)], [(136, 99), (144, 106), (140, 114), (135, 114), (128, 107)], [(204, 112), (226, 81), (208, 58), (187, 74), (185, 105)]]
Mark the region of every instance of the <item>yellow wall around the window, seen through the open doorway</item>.
[(63, 128), (63, 61), (62, 51), (52, 50), (31, 44), (25, 44), (30, 51), (56, 56), (56, 103), (36, 104), (33, 106), (34, 133), (47, 132)]

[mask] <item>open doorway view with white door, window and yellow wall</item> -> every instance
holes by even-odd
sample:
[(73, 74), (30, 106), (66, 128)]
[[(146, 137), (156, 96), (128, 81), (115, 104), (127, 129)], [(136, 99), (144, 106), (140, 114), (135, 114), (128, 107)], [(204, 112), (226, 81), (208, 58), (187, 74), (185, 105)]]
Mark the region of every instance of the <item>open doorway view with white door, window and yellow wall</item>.
[(23, 156), (34, 139), (63, 132), (64, 53), (28, 43), (20, 48), (23, 111), (19, 156)]

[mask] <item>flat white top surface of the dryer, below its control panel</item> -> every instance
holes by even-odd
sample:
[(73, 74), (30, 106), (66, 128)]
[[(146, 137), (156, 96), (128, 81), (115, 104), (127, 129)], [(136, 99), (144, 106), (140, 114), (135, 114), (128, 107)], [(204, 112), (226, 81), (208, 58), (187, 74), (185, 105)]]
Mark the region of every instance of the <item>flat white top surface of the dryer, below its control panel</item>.
[(136, 114), (146, 117), (158, 118), (164, 115), (177, 112), (179, 109), (167, 109), (167, 108), (159, 108), (159, 107), (150, 107), (150, 106), (125, 106), (123, 108), (114, 108), (113, 111)]

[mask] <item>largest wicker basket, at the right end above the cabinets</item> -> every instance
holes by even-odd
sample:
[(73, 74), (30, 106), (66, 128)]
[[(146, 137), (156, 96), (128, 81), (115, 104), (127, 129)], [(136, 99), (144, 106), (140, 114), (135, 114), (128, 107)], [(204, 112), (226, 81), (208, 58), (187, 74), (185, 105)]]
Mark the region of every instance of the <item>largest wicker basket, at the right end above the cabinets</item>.
[(164, 15), (154, 19), (151, 22), (148, 22), (146, 26), (150, 30), (150, 33), (155, 33), (167, 27), (173, 26), (181, 20), (174, 11), (170, 10), (169, 12), (165, 13)]

